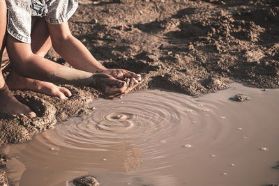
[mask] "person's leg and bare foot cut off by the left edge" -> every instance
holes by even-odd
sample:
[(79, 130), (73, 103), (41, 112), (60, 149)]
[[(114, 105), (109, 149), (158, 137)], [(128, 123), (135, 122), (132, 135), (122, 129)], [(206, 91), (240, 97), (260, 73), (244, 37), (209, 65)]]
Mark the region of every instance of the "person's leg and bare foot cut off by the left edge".
[(5, 0), (0, 0), (0, 116), (35, 117), (36, 114), (31, 111), (29, 107), (17, 101), (17, 99), (10, 93), (10, 90), (3, 79), (1, 60), (6, 38), (6, 10)]

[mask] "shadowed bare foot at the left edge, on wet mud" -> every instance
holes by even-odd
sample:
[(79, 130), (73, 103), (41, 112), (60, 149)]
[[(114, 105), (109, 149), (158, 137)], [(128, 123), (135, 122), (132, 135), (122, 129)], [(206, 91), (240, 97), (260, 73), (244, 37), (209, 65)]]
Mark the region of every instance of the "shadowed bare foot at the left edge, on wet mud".
[(6, 84), (0, 88), (0, 117), (36, 117), (35, 112), (31, 111), (29, 107), (17, 101), (17, 99), (10, 93)]

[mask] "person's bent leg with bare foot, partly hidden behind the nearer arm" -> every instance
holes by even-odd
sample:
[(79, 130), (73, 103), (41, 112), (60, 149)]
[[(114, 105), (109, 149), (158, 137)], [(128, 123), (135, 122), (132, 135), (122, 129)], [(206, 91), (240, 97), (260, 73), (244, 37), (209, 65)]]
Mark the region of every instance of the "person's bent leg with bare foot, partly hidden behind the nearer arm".
[[(50, 40), (50, 34), (48, 33), (47, 24), (43, 18), (38, 18), (36, 20), (32, 29), (31, 40), (33, 54), (44, 57), (52, 46), (52, 42)], [(10, 90), (31, 90), (45, 93), (46, 95), (57, 96), (61, 100), (65, 100), (71, 95), (67, 88), (56, 86), (49, 82), (22, 77), (17, 75), (13, 69), (6, 79), (6, 84)]]

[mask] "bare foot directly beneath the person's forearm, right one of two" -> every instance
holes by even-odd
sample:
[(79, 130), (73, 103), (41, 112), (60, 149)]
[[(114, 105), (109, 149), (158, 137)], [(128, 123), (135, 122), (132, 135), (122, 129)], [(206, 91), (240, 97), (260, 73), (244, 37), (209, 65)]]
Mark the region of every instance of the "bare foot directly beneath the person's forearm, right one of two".
[(17, 75), (13, 70), (10, 72), (6, 79), (6, 84), (10, 90), (30, 90), (46, 95), (52, 95), (66, 100), (72, 95), (68, 88), (56, 86), (49, 82), (43, 82), (36, 79), (30, 79)]

